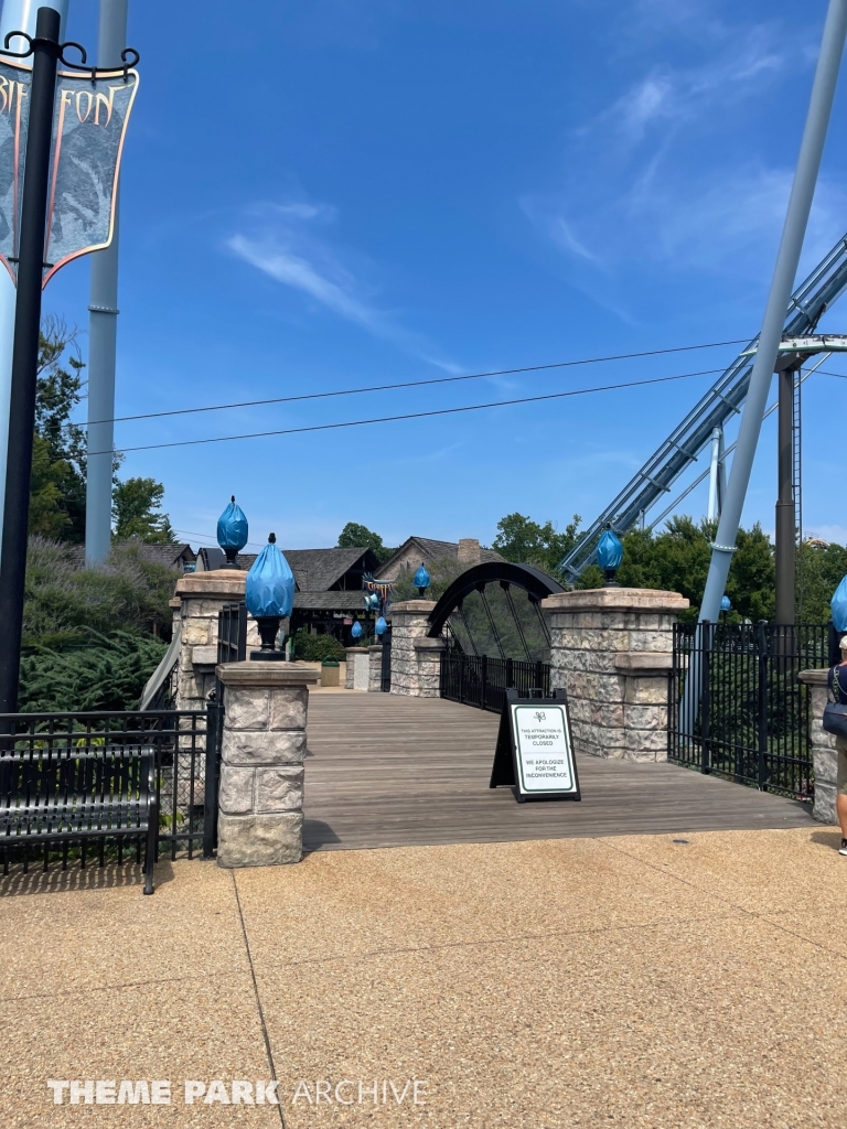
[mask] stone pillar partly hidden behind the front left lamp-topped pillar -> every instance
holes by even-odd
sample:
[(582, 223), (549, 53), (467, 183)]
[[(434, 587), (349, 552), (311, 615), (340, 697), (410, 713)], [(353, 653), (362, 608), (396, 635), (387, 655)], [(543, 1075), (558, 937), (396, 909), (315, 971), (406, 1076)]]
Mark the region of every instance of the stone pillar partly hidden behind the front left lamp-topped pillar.
[[(209, 692), (215, 688), (218, 663), (218, 613), (224, 604), (244, 599), (246, 575), (236, 569), (217, 569), (213, 572), (186, 572), (176, 581), (176, 595), (171, 606), (174, 609), (174, 624), (178, 622), (182, 630), (177, 709), (206, 709)], [(256, 622), (250, 616), (247, 653), (259, 644)]]

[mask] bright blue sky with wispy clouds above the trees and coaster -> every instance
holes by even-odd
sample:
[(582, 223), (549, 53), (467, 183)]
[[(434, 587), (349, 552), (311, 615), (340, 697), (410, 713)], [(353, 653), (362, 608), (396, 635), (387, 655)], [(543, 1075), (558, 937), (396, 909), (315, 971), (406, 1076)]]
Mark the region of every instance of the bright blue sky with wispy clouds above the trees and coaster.
[[(69, 36), (91, 47), (96, 9), (70, 0)], [(753, 335), (824, 11), (824, 0), (131, 0), (142, 81), (123, 172), (117, 414)], [(847, 230), (844, 85), (803, 270)], [(81, 261), (50, 283), (45, 309), (80, 327), (84, 355), (87, 304)], [(822, 327), (847, 329), (847, 301)], [(699, 371), (734, 352), (119, 423), (116, 443)], [(710, 379), (136, 452), (122, 473), (163, 481), (195, 545), (213, 543), (230, 493), (255, 543), (274, 530), (283, 545), (329, 545), (348, 520), (388, 544), (411, 533), (490, 543), (516, 509), (591, 520)], [(805, 525), (847, 539), (829, 455), (847, 382), (805, 388)], [(745, 522), (772, 528), (775, 479), (771, 420)], [(682, 509), (705, 507), (702, 485)]]

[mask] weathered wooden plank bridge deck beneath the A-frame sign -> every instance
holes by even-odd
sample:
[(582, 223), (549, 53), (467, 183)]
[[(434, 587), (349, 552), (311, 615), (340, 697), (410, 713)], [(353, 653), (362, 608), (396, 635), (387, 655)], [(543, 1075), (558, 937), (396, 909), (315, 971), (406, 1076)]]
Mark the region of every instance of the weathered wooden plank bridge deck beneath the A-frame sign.
[(306, 850), (796, 828), (806, 805), (675, 764), (579, 756), (582, 803), (489, 789), (499, 717), (440, 699), (309, 699)]

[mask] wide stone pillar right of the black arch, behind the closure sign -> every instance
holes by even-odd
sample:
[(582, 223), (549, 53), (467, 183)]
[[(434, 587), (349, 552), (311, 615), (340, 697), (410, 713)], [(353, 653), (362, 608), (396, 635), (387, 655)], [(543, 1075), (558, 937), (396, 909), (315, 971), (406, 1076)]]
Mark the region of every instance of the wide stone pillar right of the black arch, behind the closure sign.
[(667, 759), (672, 627), (689, 606), (675, 592), (592, 588), (548, 596), (551, 683), (568, 694), (578, 753)]

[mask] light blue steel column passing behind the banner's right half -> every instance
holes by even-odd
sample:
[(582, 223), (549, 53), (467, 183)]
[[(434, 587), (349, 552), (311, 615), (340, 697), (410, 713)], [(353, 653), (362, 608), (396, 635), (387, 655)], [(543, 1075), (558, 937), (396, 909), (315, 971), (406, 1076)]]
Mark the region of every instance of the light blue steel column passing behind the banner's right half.
[[(129, 0), (101, 0), (98, 67), (122, 65)], [(112, 544), (112, 476), (117, 351), (117, 235), (120, 186), (111, 244), (91, 255), (88, 306), (88, 475), (86, 482), (86, 561), (106, 559)]]

